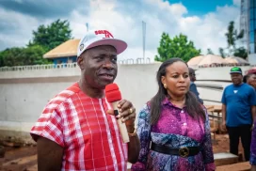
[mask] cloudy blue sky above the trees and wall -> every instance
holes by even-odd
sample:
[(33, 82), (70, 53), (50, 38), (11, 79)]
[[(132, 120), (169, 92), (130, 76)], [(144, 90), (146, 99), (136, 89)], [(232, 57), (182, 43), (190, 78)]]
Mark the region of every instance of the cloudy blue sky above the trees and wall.
[(145, 56), (153, 59), (161, 34), (183, 33), (202, 54), (226, 47), (231, 21), (239, 29), (240, 0), (0, 0), (0, 51), (24, 47), (40, 24), (68, 20), (72, 37), (89, 29), (107, 29), (128, 43), (120, 60), (143, 56), (142, 21), (146, 23)]

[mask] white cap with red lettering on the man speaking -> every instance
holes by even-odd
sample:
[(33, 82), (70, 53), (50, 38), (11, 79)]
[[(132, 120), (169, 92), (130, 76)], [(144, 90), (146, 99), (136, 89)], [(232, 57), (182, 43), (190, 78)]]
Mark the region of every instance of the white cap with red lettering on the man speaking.
[(122, 53), (127, 48), (127, 43), (120, 39), (114, 39), (113, 35), (107, 30), (89, 31), (86, 36), (80, 40), (77, 47), (77, 57), (83, 54), (86, 50), (101, 46), (111, 45), (117, 50), (117, 54)]

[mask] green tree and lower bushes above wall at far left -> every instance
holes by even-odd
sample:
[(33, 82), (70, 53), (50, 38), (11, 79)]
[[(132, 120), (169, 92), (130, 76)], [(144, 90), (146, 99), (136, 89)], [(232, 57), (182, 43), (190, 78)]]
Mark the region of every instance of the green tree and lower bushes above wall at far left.
[(49, 64), (51, 60), (44, 59), (42, 55), (68, 39), (72, 39), (68, 21), (57, 20), (47, 26), (40, 25), (37, 31), (33, 31), (33, 39), (27, 47), (8, 48), (0, 52), (0, 67)]

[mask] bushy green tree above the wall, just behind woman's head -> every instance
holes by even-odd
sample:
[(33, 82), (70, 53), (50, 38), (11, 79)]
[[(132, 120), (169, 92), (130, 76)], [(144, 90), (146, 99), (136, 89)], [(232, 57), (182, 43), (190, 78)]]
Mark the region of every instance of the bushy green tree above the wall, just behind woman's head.
[(154, 60), (164, 62), (168, 58), (180, 57), (185, 62), (190, 58), (200, 55), (200, 50), (197, 50), (191, 40), (183, 34), (170, 39), (167, 33), (162, 34), (160, 46), (157, 48), (158, 55), (155, 55)]

